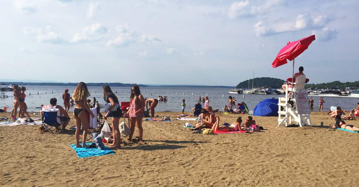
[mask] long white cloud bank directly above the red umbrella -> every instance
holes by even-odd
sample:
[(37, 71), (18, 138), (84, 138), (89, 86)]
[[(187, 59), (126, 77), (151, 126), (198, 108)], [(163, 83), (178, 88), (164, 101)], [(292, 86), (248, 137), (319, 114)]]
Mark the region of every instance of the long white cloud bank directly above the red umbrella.
[(325, 27), (332, 19), (326, 15), (311, 16), (308, 14), (298, 15), (294, 22), (263, 23), (258, 21), (254, 26), (254, 31), (257, 36), (261, 35), (274, 35), (286, 33), (290, 31), (298, 31), (305, 29), (319, 29)]

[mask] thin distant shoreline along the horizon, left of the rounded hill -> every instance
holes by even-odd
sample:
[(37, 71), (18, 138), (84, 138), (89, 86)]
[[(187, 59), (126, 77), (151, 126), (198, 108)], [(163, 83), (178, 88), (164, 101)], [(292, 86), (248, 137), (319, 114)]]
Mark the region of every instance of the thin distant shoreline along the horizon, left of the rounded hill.
[[(31, 86), (77, 86), (78, 83), (28, 83), (28, 82), (0, 82), (0, 84), (18, 84)], [(205, 85), (144, 85), (144, 84), (126, 84), (126, 83), (86, 83), (89, 87), (102, 87), (109, 85), (111, 87), (131, 87), (139, 85), (139, 87), (157, 87), (157, 88), (236, 88), (235, 86), (205, 86)]]

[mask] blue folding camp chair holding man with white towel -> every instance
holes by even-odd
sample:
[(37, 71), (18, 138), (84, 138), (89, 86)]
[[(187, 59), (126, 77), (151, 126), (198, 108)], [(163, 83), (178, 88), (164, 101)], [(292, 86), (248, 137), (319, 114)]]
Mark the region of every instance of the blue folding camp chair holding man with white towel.
[(42, 124), (41, 124), (41, 133), (51, 132), (55, 130), (55, 133), (62, 132), (61, 126), (64, 123), (57, 122), (57, 118), (60, 118), (61, 122), (69, 122), (70, 118), (57, 116), (57, 112), (43, 112)]

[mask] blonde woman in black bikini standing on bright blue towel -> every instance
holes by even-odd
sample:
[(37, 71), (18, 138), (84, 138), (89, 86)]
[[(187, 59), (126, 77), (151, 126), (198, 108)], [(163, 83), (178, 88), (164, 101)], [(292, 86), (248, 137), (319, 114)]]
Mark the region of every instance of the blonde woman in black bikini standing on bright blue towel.
[(87, 98), (90, 97), (90, 93), (87, 89), (87, 86), (84, 82), (80, 82), (74, 90), (72, 97), (75, 99), (75, 109), (74, 109), (74, 118), (76, 123), (76, 148), (81, 147), (79, 143), (80, 139), (80, 130), (81, 124), (83, 126), (82, 134), (82, 147), (88, 147), (86, 145), (86, 137), (88, 131), (88, 117), (91, 115), (92, 118), (95, 115), (91, 112), (90, 108), (87, 105)]

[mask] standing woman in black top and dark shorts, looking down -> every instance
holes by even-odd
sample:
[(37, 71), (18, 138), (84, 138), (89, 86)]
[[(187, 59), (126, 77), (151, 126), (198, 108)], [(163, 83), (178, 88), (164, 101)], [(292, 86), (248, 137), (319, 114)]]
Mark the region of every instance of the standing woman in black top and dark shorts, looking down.
[[(105, 102), (111, 103), (111, 107), (108, 110), (111, 111), (112, 114), (113, 143), (110, 144), (110, 146), (115, 146), (113, 148), (121, 147), (121, 133), (118, 125), (120, 124), (120, 118), (122, 117), (122, 110), (121, 107), (118, 107), (116, 111), (112, 111), (112, 109), (115, 107), (115, 103), (118, 105), (120, 105), (120, 103), (118, 102), (116, 95), (113, 94), (109, 85), (105, 85), (103, 87), (103, 99)], [(105, 115), (105, 119), (107, 119), (108, 114), (109, 113)]]

